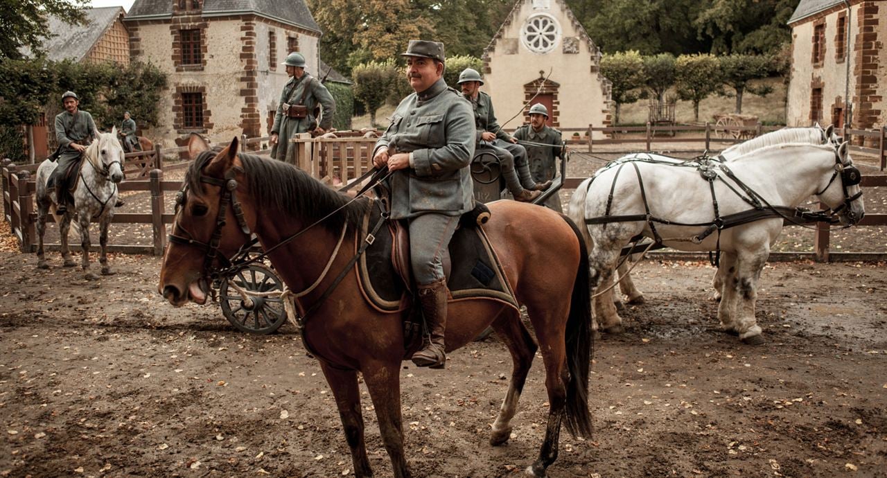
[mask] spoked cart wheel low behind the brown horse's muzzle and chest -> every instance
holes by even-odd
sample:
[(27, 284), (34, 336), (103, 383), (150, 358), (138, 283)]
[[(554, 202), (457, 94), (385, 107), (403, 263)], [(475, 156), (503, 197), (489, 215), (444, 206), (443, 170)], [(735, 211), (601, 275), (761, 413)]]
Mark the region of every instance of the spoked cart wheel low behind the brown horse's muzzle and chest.
[[(283, 291), (283, 282), (273, 270), (263, 264), (249, 264), (232, 280), (249, 292)], [(284, 310), (283, 301), (279, 296), (250, 298), (253, 300), (253, 306), (247, 308), (243, 303), (243, 297), (233, 288), (229, 288), (227, 281), (219, 287), (222, 313), (239, 331), (265, 335), (274, 333), (287, 321), (287, 311)]]

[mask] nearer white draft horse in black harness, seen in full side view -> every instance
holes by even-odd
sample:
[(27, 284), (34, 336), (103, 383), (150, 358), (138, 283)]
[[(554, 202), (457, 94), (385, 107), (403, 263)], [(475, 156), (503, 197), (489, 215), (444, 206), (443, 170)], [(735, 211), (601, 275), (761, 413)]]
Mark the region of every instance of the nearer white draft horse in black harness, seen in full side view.
[[(724, 272), (719, 278), (722, 298), (718, 306), (721, 327), (747, 343), (762, 343), (761, 328), (755, 320), (757, 279), (781, 232), (783, 217), (750, 217), (753, 222), (711, 233), (710, 226), (717, 217), (711, 188), (722, 218), (753, 210), (755, 202), (764, 210), (772, 210), (771, 206), (797, 208), (814, 195), (832, 208), (840, 223), (852, 225), (865, 213), (859, 171), (852, 166), (846, 143), (839, 147), (801, 143), (765, 146), (716, 164), (712, 170), (717, 179), (710, 183), (696, 168), (624, 157), (579, 185), (570, 200), (569, 215), (586, 223), (580, 229), (587, 232), (595, 286), (611, 283), (622, 248), (639, 235), (658, 237), (664, 246), (679, 250), (722, 251)], [(849, 179), (851, 172), (855, 180)], [(608, 200), (609, 195), (612, 200)], [(611, 216), (613, 220), (608, 221), (606, 218)], [(591, 222), (604, 222), (588, 223), (590, 218)], [(600, 308), (613, 308), (612, 304), (609, 297), (595, 302)], [(620, 330), (620, 322), (609, 322), (621, 320), (615, 308), (613, 312), (595, 317), (596, 322), (600, 321), (595, 325), (605, 331)]]

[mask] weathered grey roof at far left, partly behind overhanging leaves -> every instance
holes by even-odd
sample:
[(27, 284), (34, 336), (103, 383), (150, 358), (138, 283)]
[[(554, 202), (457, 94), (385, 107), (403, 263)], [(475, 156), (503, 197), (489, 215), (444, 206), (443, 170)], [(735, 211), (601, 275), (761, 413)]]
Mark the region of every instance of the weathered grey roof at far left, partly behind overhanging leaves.
[[(114, 26), (114, 21), (124, 14), (123, 8), (119, 6), (90, 8), (83, 12), (86, 14), (85, 25), (71, 25), (59, 17), (49, 16), (47, 27), (53, 35), (41, 43), (41, 48), (46, 52), (47, 59), (52, 61), (82, 60), (102, 35), (105, 35), (108, 28)], [(26, 57), (33, 56), (33, 52), (28, 48), (22, 48), (21, 52)]]

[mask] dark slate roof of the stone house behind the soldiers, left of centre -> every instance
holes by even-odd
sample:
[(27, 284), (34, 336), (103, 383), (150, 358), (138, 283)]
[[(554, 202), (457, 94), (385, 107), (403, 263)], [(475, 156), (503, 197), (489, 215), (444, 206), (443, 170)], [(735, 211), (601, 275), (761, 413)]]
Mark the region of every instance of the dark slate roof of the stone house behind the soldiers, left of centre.
[[(169, 0), (136, 0), (126, 20), (169, 19), (172, 6)], [(204, 18), (245, 13), (321, 33), (304, 0), (203, 0)]]

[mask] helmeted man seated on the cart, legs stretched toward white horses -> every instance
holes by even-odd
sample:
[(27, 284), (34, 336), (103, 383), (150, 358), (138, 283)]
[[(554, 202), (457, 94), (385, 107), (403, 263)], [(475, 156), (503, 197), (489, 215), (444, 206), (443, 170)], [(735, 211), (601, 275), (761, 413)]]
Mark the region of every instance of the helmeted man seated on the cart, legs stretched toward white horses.
[[(517, 144), (517, 139), (502, 130), (493, 113), (490, 95), (481, 91), (483, 80), (474, 68), (466, 68), (459, 74), (459, 86), (475, 109), (478, 152), (489, 151), (496, 155), (508, 191), (515, 200), (535, 200), (551, 184), (536, 184), (527, 166), (527, 150)], [(515, 172), (516, 169), (516, 172)]]

